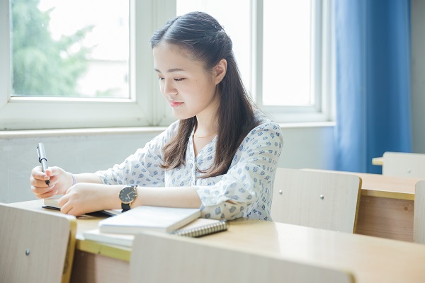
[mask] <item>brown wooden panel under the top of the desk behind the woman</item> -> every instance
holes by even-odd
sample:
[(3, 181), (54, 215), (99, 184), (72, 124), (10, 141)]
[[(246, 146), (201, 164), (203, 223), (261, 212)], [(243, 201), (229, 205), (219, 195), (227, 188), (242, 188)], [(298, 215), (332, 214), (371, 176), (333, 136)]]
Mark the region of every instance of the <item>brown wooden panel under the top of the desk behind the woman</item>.
[(356, 233), (413, 241), (413, 200), (362, 196)]

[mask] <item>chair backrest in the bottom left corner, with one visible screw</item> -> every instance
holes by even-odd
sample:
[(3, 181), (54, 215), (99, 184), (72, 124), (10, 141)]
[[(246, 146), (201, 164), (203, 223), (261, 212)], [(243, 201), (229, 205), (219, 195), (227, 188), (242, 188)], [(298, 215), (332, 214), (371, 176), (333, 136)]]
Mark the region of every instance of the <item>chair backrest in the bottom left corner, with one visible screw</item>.
[(0, 204), (0, 282), (69, 282), (77, 220)]

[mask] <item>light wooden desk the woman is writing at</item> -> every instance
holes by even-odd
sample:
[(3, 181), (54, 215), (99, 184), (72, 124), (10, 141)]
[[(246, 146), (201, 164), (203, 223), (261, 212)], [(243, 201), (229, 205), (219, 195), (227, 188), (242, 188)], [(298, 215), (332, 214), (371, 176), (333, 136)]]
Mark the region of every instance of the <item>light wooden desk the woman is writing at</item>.
[[(40, 201), (13, 205), (41, 209)], [(130, 249), (81, 238), (81, 232), (94, 228), (98, 220), (94, 217), (77, 219), (77, 250), (71, 280), (129, 282)], [(349, 270), (360, 283), (423, 282), (425, 278), (425, 245), (404, 241), (270, 221), (230, 221), (228, 231), (191, 240)]]

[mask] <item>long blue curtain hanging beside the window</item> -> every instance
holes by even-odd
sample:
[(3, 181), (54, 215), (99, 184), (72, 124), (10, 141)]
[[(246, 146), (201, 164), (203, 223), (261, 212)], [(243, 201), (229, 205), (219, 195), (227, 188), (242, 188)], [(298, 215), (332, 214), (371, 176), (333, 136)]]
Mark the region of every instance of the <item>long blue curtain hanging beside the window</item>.
[(334, 1), (335, 166), (381, 173), (372, 158), (412, 151), (410, 1)]

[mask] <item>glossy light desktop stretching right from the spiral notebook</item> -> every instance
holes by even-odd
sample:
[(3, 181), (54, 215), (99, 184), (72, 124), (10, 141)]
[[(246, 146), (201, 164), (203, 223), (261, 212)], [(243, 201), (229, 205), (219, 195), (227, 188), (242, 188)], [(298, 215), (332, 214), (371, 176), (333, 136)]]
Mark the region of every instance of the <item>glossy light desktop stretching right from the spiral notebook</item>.
[(356, 282), (422, 282), (425, 246), (268, 221), (232, 222), (203, 241), (350, 270)]

